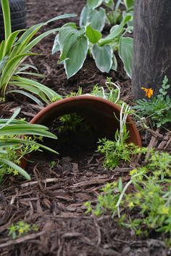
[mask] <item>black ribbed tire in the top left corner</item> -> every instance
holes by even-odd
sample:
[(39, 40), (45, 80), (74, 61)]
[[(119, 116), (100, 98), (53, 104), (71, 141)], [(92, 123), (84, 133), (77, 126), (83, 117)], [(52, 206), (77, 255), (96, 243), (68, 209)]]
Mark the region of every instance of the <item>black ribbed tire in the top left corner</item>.
[[(12, 32), (26, 28), (26, 7), (24, 0), (9, 0)], [(0, 40), (4, 40), (4, 20), (0, 1)]]

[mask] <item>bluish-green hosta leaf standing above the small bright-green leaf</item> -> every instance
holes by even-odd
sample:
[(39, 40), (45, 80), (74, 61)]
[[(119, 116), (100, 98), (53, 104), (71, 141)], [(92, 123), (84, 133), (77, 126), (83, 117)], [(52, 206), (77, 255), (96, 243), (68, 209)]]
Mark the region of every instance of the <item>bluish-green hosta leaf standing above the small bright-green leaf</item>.
[(91, 22), (91, 27), (96, 30), (103, 30), (106, 20), (106, 12), (104, 8), (94, 9), (88, 15), (88, 22)]

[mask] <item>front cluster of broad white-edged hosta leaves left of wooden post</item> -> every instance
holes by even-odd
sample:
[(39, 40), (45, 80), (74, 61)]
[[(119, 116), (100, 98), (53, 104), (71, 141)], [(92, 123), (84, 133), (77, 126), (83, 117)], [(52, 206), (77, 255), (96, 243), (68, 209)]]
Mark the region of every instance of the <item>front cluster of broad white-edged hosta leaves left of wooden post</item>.
[(67, 78), (83, 67), (88, 54), (93, 57), (101, 72), (117, 70), (117, 51), (126, 73), (131, 78), (133, 38), (125, 36), (125, 33), (132, 29), (125, 28), (125, 24), (131, 19), (130, 15), (124, 17), (120, 25), (114, 25), (109, 35), (104, 38), (91, 24), (81, 28), (72, 22), (63, 25), (55, 38), (52, 54), (60, 51), (59, 63), (64, 64)]

